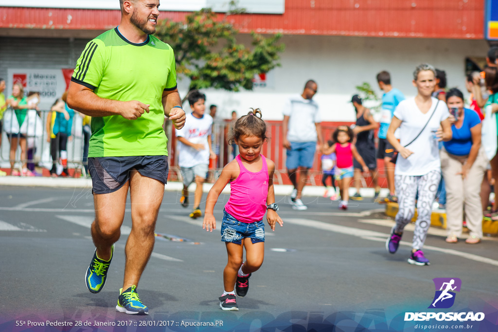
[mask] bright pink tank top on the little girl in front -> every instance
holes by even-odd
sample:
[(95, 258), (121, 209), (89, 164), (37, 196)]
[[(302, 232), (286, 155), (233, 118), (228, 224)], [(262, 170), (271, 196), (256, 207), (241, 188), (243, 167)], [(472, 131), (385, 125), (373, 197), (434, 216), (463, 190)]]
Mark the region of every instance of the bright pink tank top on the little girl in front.
[(230, 183), (230, 199), (225, 205), (225, 211), (238, 221), (261, 221), (266, 213), (268, 166), (262, 154), (261, 158), (263, 167), (259, 172), (253, 173), (244, 167), (240, 155), (236, 157), (241, 173)]

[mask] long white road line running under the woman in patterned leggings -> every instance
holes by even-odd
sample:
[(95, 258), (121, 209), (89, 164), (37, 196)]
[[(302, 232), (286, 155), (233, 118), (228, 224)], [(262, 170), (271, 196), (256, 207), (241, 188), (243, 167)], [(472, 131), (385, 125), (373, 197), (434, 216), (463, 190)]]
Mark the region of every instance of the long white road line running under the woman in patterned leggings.
[[(357, 237), (360, 237), (363, 239), (377, 241), (377, 242), (385, 242), (385, 240), (389, 236), (389, 233), (381, 233), (381, 232), (376, 232), (373, 230), (366, 230), (366, 229), (355, 228), (355, 227), (335, 225), (335, 224), (330, 224), (330, 223), (316, 221), (316, 220), (309, 220), (309, 219), (286, 218), (284, 220), (284, 222), (288, 222), (288, 223), (292, 223), (292, 224), (296, 224), (296, 225), (300, 225), (300, 226), (316, 228), (316, 229), (333, 231), (333, 232), (341, 233), (341, 234), (357, 236)], [(402, 245), (409, 246), (409, 247), (411, 247), (411, 244), (412, 244), (411, 242), (406, 242), (406, 241), (400, 241), (399, 243)], [(462, 258), (474, 260), (476, 262), (481, 262), (481, 263), (486, 263), (486, 264), (498, 266), (497, 260), (474, 255), (474, 254), (470, 254), (467, 252), (454, 250), (454, 249), (440, 248), (440, 247), (436, 247), (436, 246), (432, 246), (432, 245), (424, 245), (424, 249), (439, 251), (439, 252), (443, 252), (446, 254), (455, 255), (455, 256), (462, 257)]]

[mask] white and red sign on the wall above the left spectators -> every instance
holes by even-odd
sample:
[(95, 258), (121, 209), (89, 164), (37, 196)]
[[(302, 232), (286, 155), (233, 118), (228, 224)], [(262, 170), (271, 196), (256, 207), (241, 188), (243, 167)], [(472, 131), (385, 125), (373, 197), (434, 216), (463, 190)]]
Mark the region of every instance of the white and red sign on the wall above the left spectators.
[(49, 109), (57, 98), (60, 98), (69, 87), (73, 69), (7, 69), (5, 96), (10, 96), (12, 86), (19, 83), (24, 88), (24, 95), (29, 92), (40, 94), (41, 110)]

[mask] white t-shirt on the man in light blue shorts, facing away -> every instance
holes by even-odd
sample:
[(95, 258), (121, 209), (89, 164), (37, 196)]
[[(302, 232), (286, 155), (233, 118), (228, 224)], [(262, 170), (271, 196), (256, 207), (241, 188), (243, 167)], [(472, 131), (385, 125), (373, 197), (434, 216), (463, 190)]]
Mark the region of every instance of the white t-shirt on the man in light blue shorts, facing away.
[(285, 103), (283, 115), (289, 116), (287, 139), (290, 142), (316, 142), (315, 123), (322, 122), (318, 104), (314, 100), (293, 96)]

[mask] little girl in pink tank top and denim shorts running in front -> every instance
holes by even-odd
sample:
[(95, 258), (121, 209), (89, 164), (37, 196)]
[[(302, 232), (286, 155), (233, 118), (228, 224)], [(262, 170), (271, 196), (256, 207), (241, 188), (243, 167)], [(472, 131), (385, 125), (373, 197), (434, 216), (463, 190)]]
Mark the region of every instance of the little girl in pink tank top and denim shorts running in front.
[(241, 298), (246, 296), (249, 277), (263, 263), (262, 219), (265, 212), (267, 211), (266, 220), (271, 230), (275, 230), (276, 222), (283, 226), (282, 219), (276, 213), (278, 207), (273, 192), (275, 164), (260, 154), (266, 139), (266, 124), (261, 119), (261, 111), (252, 110), (239, 118), (229, 142), (239, 146), (240, 154), (223, 168), (207, 197), (202, 228), (213, 231), (216, 229), (213, 209), (221, 192), (230, 182), (230, 199), (225, 206), (221, 225), (221, 240), (225, 242), (228, 253), (228, 263), (223, 271), (225, 291), (219, 298), (222, 310), (239, 310), (236, 292)]

